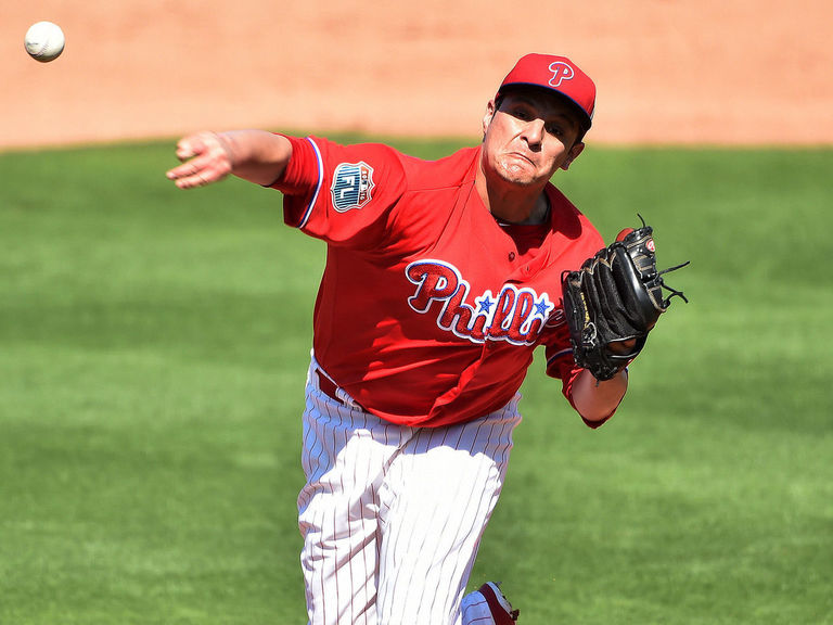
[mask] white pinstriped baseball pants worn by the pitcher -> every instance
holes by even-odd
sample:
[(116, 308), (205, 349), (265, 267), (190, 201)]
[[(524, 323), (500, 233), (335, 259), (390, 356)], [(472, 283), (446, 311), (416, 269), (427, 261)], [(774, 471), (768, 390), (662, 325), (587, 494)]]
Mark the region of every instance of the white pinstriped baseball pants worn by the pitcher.
[(298, 496), (309, 622), (474, 623), (460, 607), (503, 485), (517, 397), (469, 423), (405, 428), (326, 396), (317, 370), (313, 358)]

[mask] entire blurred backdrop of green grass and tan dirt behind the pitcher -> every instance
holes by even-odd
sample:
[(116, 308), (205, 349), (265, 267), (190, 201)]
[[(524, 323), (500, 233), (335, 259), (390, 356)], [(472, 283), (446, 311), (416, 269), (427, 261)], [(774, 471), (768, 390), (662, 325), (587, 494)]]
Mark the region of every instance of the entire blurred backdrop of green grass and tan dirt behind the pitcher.
[[(306, 622), (295, 499), (325, 251), (165, 179), (260, 127), (439, 158), (526, 52), (599, 88), (554, 183), (675, 299), (591, 431), (543, 365), (471, 584), (522, 625), (833, 625), (825, 0), (0, 0), (0, 624)], [(66, 49), (23, 38), (57, 23)]]

